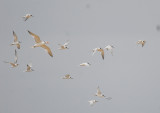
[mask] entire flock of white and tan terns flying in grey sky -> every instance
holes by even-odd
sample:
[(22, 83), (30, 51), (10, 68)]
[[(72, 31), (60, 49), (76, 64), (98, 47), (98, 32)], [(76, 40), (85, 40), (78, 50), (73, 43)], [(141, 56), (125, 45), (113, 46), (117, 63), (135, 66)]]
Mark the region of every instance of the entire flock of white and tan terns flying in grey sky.
[[(24, 21), (27, 21), (29, 18), (33, 17), (31, 14), (26, 14), (25, 16), (23, 16), (22, 18), (24, 18)], [(48, 44), (49, 42), (48, 41), (42, 41), (40, 39), (40, 37), (34, 33), (32, 33), (31, 31), (28, 31), (28, 33), (34, 38), (35, 40), (35, 44), (32, 46), (32, 48), (36, 48), (36, 47), (42, 47), (43, 49), (45, 49), (45, 51), (47, 51), (47, 53), (53, 57), (53, 54), (52, 54), (52, 51), (51, 49), (46, 45)], [(11, 44), (11, 45), (15, 45), (17, 46), (18, 49), (20, 49), (20, 41), (18, 40), (17, 38), (17, 35), (16, 33), (13, 31), (13, 37), (14, 37), (14, 42)], [(138, 45), (142, 45), (142, 47), (145, 45), (146, 41), (145, 40), (138, 40), (137, 41), (137, 44)], [(64, 43), (63, 45), (59, 44), (60, 48), (59, 50), (65, 50), (65, 49), (68, 49), (68, 44), (69, 44), (69, 41), (67, 41), (66, 43)], [(100, 52), (101, 56), (102, 56), (102, 59), (104, 60), (104, 50), (108, 50), (110, 51), (111, 55), (113, 56), (113, 48), (115, 48), (114, 46), (112, 45), (107, 45), (105, 48), (95, 48), (93, 49), (93, 54), (94, 55), (96, 52)], [(15, 59), (14, 59), (14, 62), (6, 62), (4, 61), (5, 63), (9, 63), (11, 65), (12, 68), (15, 68), (17, 67), (19, 64), (17, 63), (17, 60), (18, 60), (18, 56), (17, 56), (17, 51), (15, 49)], [(86, 66), (86, 67), (89, 67), (91, 64), (88, 63), (88, 62), (85, 62), (85, 63), (81, 63), (80, 66)], [(32, 72), (34, 71), (32, 69), (32, 64), (27, 64), (27, 69), (24, 71), (24, 72)], [(62, 77), (62, 79), (73, 79), (69, 74), (65, 75), (64, 77)], [(101, 97), (101, 98), (105, 98), (107, 100), (111, 100), (112, 98), (111, 97), (106, 97), (105, 95), (102, 94), (102, 92), (100, 91), (100, 88), (99, 86), (97, 87), (97, 92), (95, 94), (95, 96), (97, 97)], [(89, 104), (91, 106), (93, 106), (94, 103), (98, 102), (97, 100), (90, 100), (88, 101)]]

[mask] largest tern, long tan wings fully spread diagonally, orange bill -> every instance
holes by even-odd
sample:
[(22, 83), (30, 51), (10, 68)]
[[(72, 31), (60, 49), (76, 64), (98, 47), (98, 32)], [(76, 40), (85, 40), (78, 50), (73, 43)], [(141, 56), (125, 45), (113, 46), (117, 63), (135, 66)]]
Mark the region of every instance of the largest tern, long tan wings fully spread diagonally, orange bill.
[(30, 31), (28, 31), (28, 33), (34, 38), (34, 40), (36, 42), (36, 44), (34, 44), (34, 46), (32, 48), (42, 47), (42, 48), (44, 48), (48, 52), (48, 54), (51, 57), (53, 57), (52, 51), (50, 50), (50, 48), (48, 46), (46, 46), (46, 44), (48, 44), (49, 42), (47, 42), (47, 41), (41, 41), (38, 35), (30, 32)]

